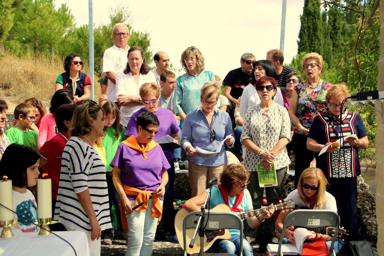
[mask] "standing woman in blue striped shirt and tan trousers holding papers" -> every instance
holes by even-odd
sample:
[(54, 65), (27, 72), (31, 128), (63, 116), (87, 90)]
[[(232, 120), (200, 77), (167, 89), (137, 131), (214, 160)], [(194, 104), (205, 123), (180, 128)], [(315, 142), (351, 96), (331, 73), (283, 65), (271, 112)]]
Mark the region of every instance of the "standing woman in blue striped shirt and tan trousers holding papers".
[[(217, 99), (220, 95), (220, 88), (213, 82), (207, 82), (201, 88), (200, 102), (198, 109), (191, 111), (185, 117), (182, 139), (180, 144), (187, 152), (189, 185), (192, 190), (192, 197), (200, 195), (206, 188), (209, 180), (219, 178), (220, 173), (227, 167), (227, 154), (222, 140), (232, 135), (224, 142), (232, 147), (235, 142), (235, 135), (232, 130), (232, 122), (227, 112), (217, 107)], [(196, 155), (195, 149), (219, 152), (214, 157), (201, 157)]]

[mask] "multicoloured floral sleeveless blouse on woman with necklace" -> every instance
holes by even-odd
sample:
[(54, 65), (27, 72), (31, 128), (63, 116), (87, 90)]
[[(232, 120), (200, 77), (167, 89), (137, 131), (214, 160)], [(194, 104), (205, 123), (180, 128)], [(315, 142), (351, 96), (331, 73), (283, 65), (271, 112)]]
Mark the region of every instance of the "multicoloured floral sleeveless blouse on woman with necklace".
[[(323, 112), (326, 107), (325, 96), (331, 86), (332, 84), (323, 81), (311, 94), (308, 94), (303, 83), (295, 87), (298, 96), (296, 116), (305, 128), (310, 129), (314, 117)], [(303, 134), (299, 127), (294, 127), (293, 131)]]

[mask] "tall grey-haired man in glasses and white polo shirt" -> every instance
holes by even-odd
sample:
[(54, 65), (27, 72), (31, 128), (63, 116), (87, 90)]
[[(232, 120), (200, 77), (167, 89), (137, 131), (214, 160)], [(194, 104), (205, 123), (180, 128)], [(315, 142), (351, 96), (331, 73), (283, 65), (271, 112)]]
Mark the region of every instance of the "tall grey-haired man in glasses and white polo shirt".
[(113, 26), (112, 31), (115, 44), (104, 51), (103, 74), (109, 80), (107, 88), (108, 101), (117, 102), (116, 76), (122, 73), (127, 66), (129, 30), (123, 23), (117, 23)]

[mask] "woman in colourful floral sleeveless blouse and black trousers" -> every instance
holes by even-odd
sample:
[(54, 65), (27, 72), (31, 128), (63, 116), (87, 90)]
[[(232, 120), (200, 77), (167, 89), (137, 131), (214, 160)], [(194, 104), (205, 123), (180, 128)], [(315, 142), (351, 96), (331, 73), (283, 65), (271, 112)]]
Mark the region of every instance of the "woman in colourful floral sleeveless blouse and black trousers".
[(301, 173), (313, 160), (314, 153), (306, 147), (307, 135), (313, 119), (326, 107), (325, 95), (331, 84), (320, 78), (324, 68), (323, 57), (318, 53), (307, 53), (303, 57), (302, 68), (306, 80), (292, 92), (288, 109), (293, 128), (293, 147), (295, 148), (295, 188)]

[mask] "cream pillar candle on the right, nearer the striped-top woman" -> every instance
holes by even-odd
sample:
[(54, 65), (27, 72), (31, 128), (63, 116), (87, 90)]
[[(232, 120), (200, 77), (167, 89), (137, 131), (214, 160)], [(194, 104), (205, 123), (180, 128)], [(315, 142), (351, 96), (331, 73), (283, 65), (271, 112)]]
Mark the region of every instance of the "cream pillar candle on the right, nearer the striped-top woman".
[(37, 180), (37, 218), (52, 218), (51, 179)]

